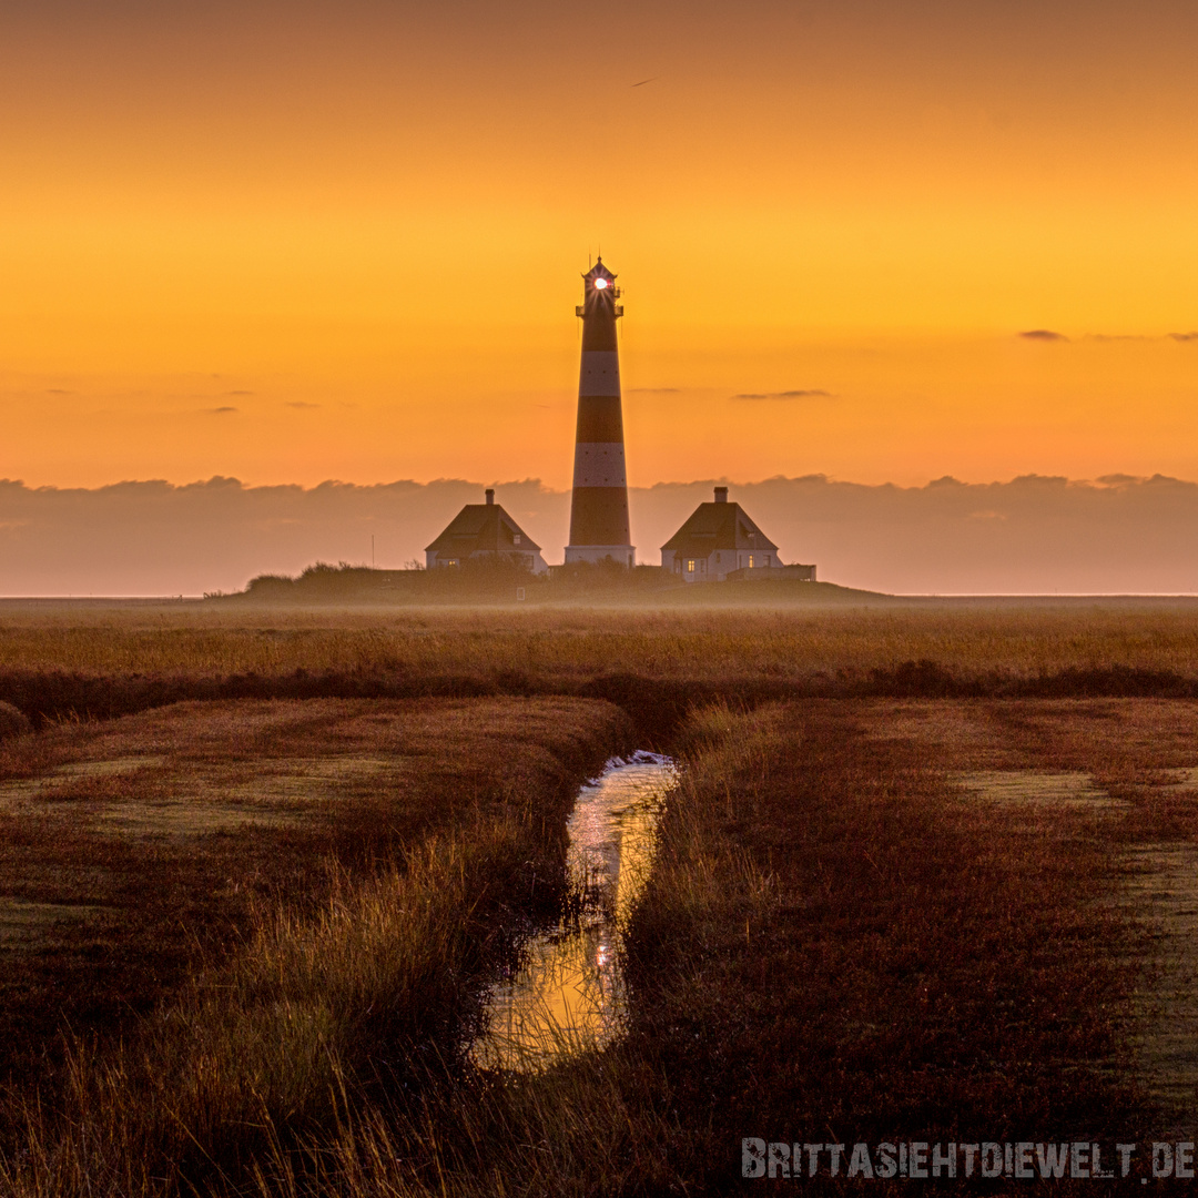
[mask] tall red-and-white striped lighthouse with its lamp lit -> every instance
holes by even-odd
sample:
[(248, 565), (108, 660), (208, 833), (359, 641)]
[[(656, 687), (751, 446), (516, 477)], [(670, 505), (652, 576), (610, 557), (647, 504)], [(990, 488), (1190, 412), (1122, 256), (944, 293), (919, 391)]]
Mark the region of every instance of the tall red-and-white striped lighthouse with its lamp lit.
[(565, 561), (633, 565), (629, 544), (628, 479), (624, 474), (624, 416), (619, 399), (616, 317), (624, 314), (616, 276), (600, 258), (582, 276), (582, 370), (579, 430), (574, 444), (574, 496)]

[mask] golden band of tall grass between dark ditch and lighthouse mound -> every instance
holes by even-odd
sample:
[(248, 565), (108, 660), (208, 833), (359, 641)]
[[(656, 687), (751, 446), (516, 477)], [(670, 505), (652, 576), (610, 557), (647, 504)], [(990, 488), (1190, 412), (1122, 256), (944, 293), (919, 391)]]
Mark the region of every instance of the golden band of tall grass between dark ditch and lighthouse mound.
[(563, 682), (627, 671), (720, 680), (867, 673), (925, 659), (967, 672), (1126, 666), (1198, 673), (1198, 605), (0, 615), (0, 672), (491, 677), (520, 671)]

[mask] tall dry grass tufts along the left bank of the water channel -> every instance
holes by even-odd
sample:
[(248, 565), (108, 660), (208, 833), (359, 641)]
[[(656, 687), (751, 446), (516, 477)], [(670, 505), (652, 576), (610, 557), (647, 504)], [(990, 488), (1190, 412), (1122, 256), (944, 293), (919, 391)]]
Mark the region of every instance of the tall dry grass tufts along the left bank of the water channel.
[(272, 1150), (335, 1125), (350, 1094), (452, 1070), (500, 910), (534, 885), (530, 841), (480, 821), (368, 883), (339, 877), (315, 918), (261, 910), (231, 960), (122, 1045), (74, 1043), (65, 1093), (26, 1105), (0, 1192), (236, 1190)]

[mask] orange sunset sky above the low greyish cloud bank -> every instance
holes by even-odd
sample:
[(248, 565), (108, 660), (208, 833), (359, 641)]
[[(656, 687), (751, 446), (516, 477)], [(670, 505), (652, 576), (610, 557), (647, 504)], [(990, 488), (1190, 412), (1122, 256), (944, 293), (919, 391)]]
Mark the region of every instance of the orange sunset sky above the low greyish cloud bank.
[(0, 477), (565, 488), (601, 244), (634, 484), (1198, 478), (1196, 42), (1160, 0), (6, 0)]

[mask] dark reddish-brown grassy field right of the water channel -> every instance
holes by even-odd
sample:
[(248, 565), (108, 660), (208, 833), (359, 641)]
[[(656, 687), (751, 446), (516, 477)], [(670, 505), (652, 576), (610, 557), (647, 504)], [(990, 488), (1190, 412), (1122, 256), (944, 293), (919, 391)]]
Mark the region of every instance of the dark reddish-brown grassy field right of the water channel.
[[(1144, 701), (698, 712), (625, 1041), (347, 1119), (311, 1158), (353, 1196), (728, 1193), (774, 1192), (744, 1137), (1084, 1140), (1136, 1143), (1138, 1182), (1150, 1140), (1194, 1138), (1198, 955), (1152, 896), (1180, 851), (1198, 900), (1196, 733)], [(801, 1184), (858, 1192), (847, 1155)], [(276, 1167), (262, 1194), (320, 1192)]]

